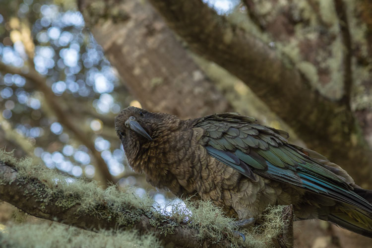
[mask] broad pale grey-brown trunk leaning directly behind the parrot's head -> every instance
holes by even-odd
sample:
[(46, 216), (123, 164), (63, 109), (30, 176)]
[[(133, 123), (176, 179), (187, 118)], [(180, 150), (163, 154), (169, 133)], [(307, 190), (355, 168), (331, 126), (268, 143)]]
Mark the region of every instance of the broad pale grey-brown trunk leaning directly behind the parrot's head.
[(79, 9), (145, 109), (182, 118), (232, 110), (146, 1), (79, 0)]

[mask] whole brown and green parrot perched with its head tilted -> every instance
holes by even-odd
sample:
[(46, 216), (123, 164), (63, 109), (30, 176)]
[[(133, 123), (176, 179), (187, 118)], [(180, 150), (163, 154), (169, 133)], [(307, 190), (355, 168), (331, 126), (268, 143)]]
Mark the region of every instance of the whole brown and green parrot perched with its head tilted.
[(293, 205), (295, 220), (330, 221), (372, 238), (372, 190), (288, 133), (237, 113), (181, 120), (128, 107), (115, 119), (129, 165), (179, 197), (197, 196), (238, 220)]

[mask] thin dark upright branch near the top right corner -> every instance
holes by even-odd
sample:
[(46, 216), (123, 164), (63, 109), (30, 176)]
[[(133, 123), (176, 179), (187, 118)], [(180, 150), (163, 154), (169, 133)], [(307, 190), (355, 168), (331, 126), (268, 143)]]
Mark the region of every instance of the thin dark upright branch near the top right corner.
[(350, 109), (350, 96), (351, 87), (353, 84), (353, 75), (351, 69), (351, 37), (349, 31), (349, 22), (345, 10), (345, 5), (343, 0), (334, 0), (334, 5), (336, 8), (336, 13), (339, 19), (340, 31), (342, 34), (342, 41), (344, 43), (344, 53), (343, 53), (343, 68), (344, 68), (344, 93), (341, 101), (348, 109)]

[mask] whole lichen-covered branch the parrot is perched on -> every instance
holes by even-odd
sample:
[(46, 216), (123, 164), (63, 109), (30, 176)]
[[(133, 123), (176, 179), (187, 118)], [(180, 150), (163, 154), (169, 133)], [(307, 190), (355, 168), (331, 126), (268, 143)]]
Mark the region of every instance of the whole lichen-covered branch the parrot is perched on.
[[(293, 244), (291, 206), (270, 207), (263, 224), (242, 231), (247, 240), (234, 238), (234, 219), (208, 201), (187, 208), (173, 205), (171, 213), (154, 210), (152, 199), (136, 196), (131, 187), (103, 190), (94, 182), (68, 181), (30, 159), (17, 160), (0, 150), (0, 200), (33, 216), (89, 230), (135, 230), (154, 235), (175, 247), (275, 247)], [(289, 210), (287, 209), (289, 208)], [(290, 246), (287, 246), (290, 247)]]

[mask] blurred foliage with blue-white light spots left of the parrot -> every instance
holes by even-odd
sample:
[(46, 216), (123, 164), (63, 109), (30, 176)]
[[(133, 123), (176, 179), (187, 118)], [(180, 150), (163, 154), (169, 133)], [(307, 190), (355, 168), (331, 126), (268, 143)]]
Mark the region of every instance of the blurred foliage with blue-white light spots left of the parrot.
[[(131, 99), (104, 58), (102, 48), (84, 30), (81, 14), (68, 4), (51, 1), (2, 1), (0, 55), (7, 66), (24, 74), (37, 71), (47, 78), (66, 118), (87, 132), (95, 147), (118, 176), (124, 172), (124, 151), (115, 137), (113, 120)], [(115, 91), (114, 91), (115, 90)], [(118, 101), (119, 100), (119, 101)], [(35, 156), (49, 168), (74, 177), (92, 178), (93, 161), (48, 108), (43, 93), (24, 75), (0, 74), (0, 122), (34, 146)]]

